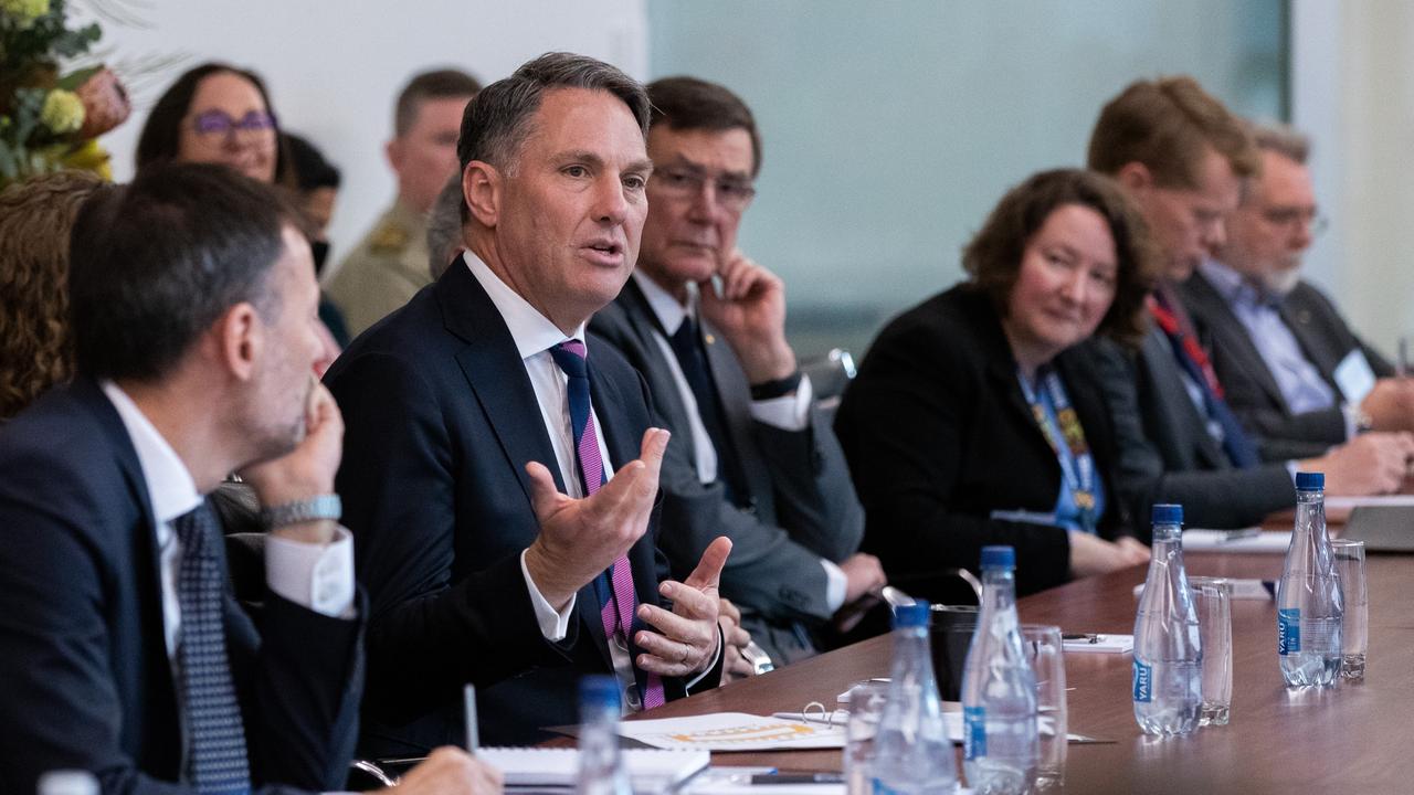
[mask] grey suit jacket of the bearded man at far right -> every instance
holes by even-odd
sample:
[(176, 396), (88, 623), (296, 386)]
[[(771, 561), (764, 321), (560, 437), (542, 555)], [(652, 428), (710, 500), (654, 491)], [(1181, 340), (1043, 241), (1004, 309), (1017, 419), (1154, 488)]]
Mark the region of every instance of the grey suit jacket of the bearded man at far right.
[[(1202, 273), (1195, 273), (1181, 294), (1203, 345), (1212, 351), (1227, 405), (1251, 433), (1264, 460), (1321, 455), (1328, 447), (1346, 441), (1345, 413), (1339, 406), (1299, 414), (1291, 412), (1247, 328)], [(1360, 341), (1335, 306), (1311, 284), (1297, 284), (1280, 311), (1307, 359), (1336, 395), (1340, 386), (1335, 369), (1350, 351), (1362, 351), (1377, 376), (1394, 373), (1390, 362)]]

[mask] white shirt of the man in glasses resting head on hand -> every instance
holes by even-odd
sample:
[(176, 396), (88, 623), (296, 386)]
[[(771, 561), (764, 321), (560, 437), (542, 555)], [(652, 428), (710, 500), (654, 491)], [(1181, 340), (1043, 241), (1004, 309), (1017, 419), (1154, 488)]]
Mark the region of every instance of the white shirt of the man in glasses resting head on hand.
[[(633, 272), (633, 280), (638, 283), (639, 289), (643, 290), (643, 297), (648, 298), (648, 306), (658, 315), (658, 323), (662, 328), (670, 330), (669, 334), (676, 334), (677, 327), (683, 324), (689, 317), (697, 317), (697, 300), (696, 294), (690, 293), (687, 306), (677, 303), (677, 298), (672, 293), (662, 289), (656, 282), (645, 276), (642, 272)], [(717, 447), (711, 443), (711, 436), (707, 434), (707, 426), (703, 424), (701, 410), (697, 407), (697, 398), (693, 395), (693, 388), (687, 383), (687, 376), (683, 375), (683, 368), (677, 364), (677, 354), (673, 351), (672, 342), (667, 337), (655, 328), (653, 341), (658, 342), (659, 349), (663, 352), (663, 359), (667, 361), (667, 369), (673, 373), (673, 383), (677, 385), (677, 396), (682, 398), (683, 405), (687, 406), (687, 424), (691, 427), (693, 433), (693, 451), (696, 453), (697, 464), (697, 480), (703, 484), (710, 484), (717, 480)], [(782, 395), (781, 398), (771, 398), (768, 400), (752, 400), (751, 402), (751, 416), (758, 422), (766, 423), (769, 426), (778, 427), (781, 430), (800, 431), (810, 424), (810, 400), (814, 398), (813, 389), (810, 386), (810, 376), (800, 376), (800, 386), (796, 389), (795, 395)], [(844, 604), (846, 591), (848, 590), (848, 579), (844, 571), (836, 566), (833, 562), (820, 559), (820, 567), (824, 569), (824, 601), (834, 613)]]

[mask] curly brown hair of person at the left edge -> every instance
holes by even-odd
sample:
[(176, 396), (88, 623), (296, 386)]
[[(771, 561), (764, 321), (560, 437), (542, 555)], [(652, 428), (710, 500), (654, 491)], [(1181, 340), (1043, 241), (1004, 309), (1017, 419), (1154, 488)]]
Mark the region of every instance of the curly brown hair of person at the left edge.
[(102, 190), (95, 174), (59, 171), (0, 192), (0, 422), (72, 373), (69, 229)]

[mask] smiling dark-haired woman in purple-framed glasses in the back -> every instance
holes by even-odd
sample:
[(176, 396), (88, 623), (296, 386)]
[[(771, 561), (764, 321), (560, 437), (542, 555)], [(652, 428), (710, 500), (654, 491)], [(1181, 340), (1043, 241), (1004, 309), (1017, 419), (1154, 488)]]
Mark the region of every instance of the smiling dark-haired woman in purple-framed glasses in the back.
[[(208, 62), (184, 72), (153, 105), (137, 140), (137, 170), (160, 163), (219, 163), (246, 177), (297, 192), (286, 139), (259, 75)], [(308, 226), (308, 225), (307, 225)], [(317, 238), (305, 229), (311, 249)], [(322, 376), (339, 344), (322, 323)]]

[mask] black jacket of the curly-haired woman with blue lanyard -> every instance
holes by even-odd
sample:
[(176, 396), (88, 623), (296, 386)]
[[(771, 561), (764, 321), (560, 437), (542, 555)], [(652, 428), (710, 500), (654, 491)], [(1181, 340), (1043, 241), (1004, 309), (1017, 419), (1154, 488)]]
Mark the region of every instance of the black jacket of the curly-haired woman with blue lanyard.
[[(1099, 535), (1133, 535), (1111, 477), (1114, 429), (1087, 352), (1070, 348), (1053, 365), (1104, 482)], [(959, 284), (894, 318), (846, 390), (834, 430), (864, 501), (864, 549), (889, 580), (976, 571), (981, 547), (994, 543), (1017, 549), (1017, 593), (1068, 579), (1063, 529), (991, 518), (1055, 511), (1062, 474), (986, 294)]]

